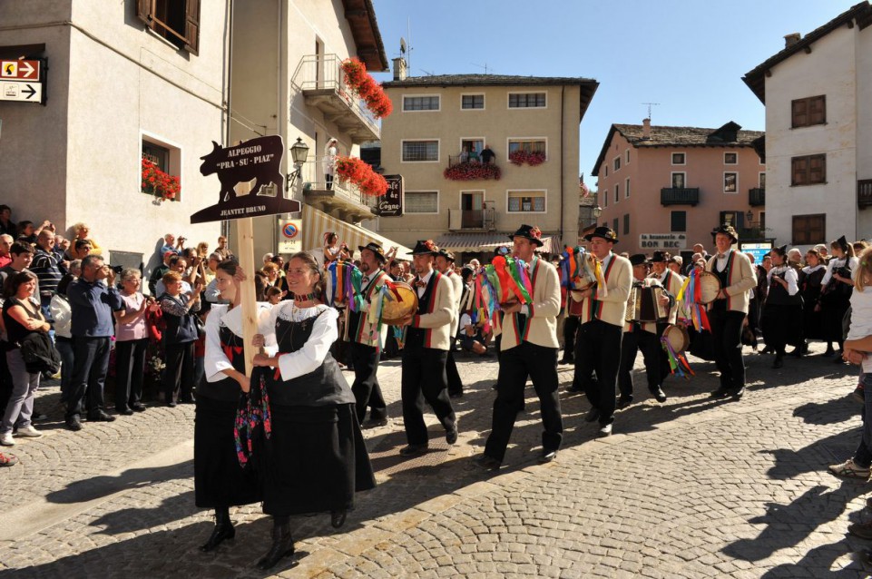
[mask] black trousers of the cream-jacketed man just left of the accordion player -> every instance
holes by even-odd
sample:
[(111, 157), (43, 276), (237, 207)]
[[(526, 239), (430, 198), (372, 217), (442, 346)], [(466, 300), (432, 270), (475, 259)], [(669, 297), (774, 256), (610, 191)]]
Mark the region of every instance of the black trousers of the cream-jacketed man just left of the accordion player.
[(603, 426), (614, 421), (622, 333), (621, 326), (594, 319), (582, 324), (575, 342), (575, 379), (581, 380), (587, 399), (600, 411)]

